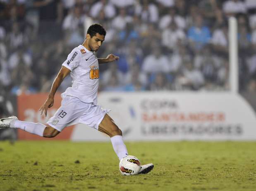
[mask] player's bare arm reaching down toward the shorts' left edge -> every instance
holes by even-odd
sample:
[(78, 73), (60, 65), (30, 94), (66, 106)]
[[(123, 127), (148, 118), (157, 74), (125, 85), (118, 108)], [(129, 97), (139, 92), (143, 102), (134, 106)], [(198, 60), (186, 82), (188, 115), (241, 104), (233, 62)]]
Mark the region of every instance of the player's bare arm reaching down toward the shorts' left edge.
[(57, 77), (55, 77), (53, 81), (53, 85), (50, 89), (50, 93), (48, 95), (47, 100), (44, 102), (44, 104), (40, 107), (39, 111), (41, 111), (41, 114), (45, 114), (47, 116), (47, 109), (50, 107), (53, 107), (54, 103), (54, 95), (59, 88), (60, 84), (62, 83), (63, 79), (69, 75), (70, 70), (66, 68), (65, 66), (62, 66), (60, 69), (60, 72), (58, 73)]

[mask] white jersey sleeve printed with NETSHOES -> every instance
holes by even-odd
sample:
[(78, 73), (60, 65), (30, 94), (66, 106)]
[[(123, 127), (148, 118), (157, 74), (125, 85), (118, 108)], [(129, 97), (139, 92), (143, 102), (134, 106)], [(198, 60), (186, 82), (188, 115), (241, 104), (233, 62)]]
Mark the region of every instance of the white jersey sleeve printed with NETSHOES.
[(77, 49), (73, 49), (70, 54), (67, 56), (67, 60), (65, 60), (62, 63), (62, 66), (65, 66), (68, 68), (70, 71), (74, 70), (77, 68), (81, 60), (81, 53)]

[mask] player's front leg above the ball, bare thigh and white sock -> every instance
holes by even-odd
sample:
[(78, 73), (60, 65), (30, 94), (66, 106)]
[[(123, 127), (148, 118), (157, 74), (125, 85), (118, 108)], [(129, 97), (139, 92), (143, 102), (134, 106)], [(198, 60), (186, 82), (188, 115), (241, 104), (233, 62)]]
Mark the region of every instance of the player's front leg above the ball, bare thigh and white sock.
[(105, 114), (103, 120), (98, 126), (98, 130), (110, 136), (113, 149), (119, 160), (128, 155), (127, 148), (123, 141), (122, 131), (117, 127), (113, 119), (111, 119), (108, 114)]

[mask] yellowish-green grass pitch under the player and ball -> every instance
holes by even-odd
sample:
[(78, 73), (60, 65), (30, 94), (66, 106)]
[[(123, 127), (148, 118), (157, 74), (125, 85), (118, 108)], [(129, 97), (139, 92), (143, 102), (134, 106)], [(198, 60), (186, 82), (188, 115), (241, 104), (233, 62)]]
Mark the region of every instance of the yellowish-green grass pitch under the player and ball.
[(0, 191), (255, 191), (256, 142), (127, 142), (154, 163), (122, 176), (110, 142), (0, 142)]

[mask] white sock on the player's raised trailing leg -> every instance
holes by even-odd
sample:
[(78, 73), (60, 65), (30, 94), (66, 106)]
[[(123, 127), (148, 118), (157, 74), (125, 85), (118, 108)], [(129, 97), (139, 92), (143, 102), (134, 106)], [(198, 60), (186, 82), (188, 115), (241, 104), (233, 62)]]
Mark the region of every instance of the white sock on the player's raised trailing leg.
[(33, 122), (14, 120), (11, 122), (10, 127), (20, 128), (26, 132), (43, 137), (43, 131), (46, 126), (43, 125), (42, 123), (33, 123)]

